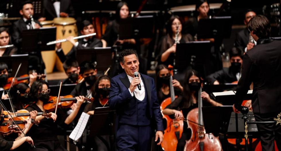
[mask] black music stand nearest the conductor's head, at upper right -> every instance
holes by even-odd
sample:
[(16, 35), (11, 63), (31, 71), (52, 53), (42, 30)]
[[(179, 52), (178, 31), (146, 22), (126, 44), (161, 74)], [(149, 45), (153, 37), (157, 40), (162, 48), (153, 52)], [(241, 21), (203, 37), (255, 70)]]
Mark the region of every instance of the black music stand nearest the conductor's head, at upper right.
[(231, 35), (231, 16), (200, 19), (197, 39), (200, 38), (229, 38)]

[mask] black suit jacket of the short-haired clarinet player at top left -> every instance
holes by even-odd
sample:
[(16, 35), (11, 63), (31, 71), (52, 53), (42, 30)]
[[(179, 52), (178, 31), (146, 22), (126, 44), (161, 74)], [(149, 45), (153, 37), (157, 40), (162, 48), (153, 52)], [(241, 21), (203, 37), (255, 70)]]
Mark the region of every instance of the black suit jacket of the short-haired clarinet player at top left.
[[(39, 21), (34, 20), (35, 23), (39, 23)], [(27, 30), (26, 23), (24, 22), (24, 19), (19, 19), (18, 21), (15, 21), (13, 24), (13, 44), (16, 45), (18, 48), (22, 47), (22, 31)]]

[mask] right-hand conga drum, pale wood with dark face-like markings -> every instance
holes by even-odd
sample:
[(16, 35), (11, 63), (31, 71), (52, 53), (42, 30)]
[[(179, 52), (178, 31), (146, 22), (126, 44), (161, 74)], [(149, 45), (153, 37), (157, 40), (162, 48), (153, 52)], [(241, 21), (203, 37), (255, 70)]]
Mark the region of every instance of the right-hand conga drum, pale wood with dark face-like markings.
[[(72, 17), (59, 17), (54, 18), (54, 25), (56, 26), (56, 39), (64, 39), (69, 36), (77, 37), (78, 30), (76, 26), (76, 20)], [(64, 54), (67, 54), (73, 45), (69, 42), (63, 42), (61, 43), (61, 48), (63, 49)], [(63, 64), (60, 61), (60, 59), (56, 56), (56, 68), (58, 71), (64, 71), (63, 70)]]

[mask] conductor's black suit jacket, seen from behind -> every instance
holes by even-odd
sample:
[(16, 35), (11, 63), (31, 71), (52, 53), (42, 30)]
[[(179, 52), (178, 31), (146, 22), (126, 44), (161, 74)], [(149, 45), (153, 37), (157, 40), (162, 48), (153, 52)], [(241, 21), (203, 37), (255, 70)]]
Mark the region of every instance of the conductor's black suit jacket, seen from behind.
[(238, 82), (235, 107), (239, 108), (253, 82), (254, 113), (281, 111), (281, 42), (258, 39), (257, 45), (243, 57), (242, 75)]

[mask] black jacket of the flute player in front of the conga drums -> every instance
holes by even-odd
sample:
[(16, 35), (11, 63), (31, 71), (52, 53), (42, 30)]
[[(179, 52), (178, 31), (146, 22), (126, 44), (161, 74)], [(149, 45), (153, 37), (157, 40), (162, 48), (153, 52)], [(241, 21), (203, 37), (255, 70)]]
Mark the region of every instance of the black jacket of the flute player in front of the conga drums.
[(66, 59), (75, 59), (77, 56), (77, 50), (78, 49), (87, 49), (87, 48), (95, 48), (95, 47), (102, 47), (102, 41), (100, 39), (97, 39), (95, 37), (92, 37), (91, 39), (80, 39), (78, 41), (77, 47), (73, 46), (72, 49), (65, 55), (63, 53), (62, 49), (58, 49), (56, 51), (56, 54), (60, 58), (61, 62), (64, 62)]

